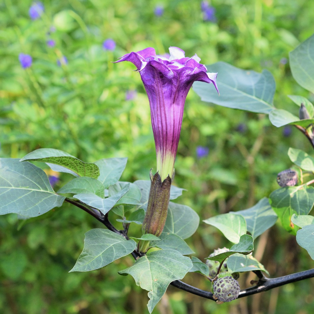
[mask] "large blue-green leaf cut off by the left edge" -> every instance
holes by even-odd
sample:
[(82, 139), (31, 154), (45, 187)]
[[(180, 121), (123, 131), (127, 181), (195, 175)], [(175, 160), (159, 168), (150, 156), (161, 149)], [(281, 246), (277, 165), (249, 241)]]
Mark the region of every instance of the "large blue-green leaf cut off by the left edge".
[(36, 217), (60, 207), (65, 198), (53, 191), (40, 168), (19, 159), (0, 158), (0, 199), (1, 215)]

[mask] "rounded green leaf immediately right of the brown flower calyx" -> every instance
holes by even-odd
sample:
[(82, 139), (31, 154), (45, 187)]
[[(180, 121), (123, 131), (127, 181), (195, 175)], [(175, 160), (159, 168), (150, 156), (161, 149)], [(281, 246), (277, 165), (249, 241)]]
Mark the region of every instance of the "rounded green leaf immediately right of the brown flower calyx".
[(187, 239), (196, 231), (198, 225), (198, 214), (191, 207), (169, 202), (163, 232), (174, 233), (182, 239)]

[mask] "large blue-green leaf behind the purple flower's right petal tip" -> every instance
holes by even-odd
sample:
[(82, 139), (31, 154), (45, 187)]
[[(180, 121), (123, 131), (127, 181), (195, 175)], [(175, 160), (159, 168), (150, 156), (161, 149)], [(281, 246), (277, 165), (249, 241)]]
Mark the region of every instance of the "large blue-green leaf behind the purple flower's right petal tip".
[(268, 70), (257, 73), (242, 70), (225, 62), (207, 66), (208, 72), (218, 72), (220, 96), (211, 84), (195, 82), (193, 89), (203, 101), (251, 112), (269, 113), (274, 109), (275, 80)]

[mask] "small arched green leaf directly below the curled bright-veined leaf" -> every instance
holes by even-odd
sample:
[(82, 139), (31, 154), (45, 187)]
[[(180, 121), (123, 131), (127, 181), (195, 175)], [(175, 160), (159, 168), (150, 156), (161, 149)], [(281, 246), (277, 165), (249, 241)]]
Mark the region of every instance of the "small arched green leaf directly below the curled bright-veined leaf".
[(105, 187), (101, 182), (94, 178), (78, 177), (66, 183), (58, 193), (94, 193), (103, 198), (105, 194)]

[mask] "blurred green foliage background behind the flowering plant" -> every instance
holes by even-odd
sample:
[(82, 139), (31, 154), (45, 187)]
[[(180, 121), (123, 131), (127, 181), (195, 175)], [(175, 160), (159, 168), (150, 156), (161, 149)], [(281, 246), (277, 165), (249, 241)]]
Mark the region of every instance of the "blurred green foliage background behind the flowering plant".
[[(122, 180), (147, 180), (155, 167), (148, 99), (134, 66), (111, 62), (148, 46), (159, 54), (179, 46), (204, 64), (267, 68), (277, 84), (275, 106), (296, 115), (286, 95), (314, 100), (294, 82), (287, 63), (288, 52), (312, 35), (311, 1), (213, 0), (215, 22), (203, 20), (201, 1), (43, 1), (45, 11), (36, 20), (28, 14), (31, 4), (0, 3), (1, 157), (21, 158), (49, 147), (85, 162), (128, 157)], [(162, 16), (154, 15), (156, 5), (164, 7)], [(116, 42), (113, 51), (102, 47), (108, 38)], [(20, 53), (31, 55), (30, 68), (21, 67)], [(58, 65), (63, 57), (67, 63)], [(127, 100), (130, 90), (137, 93)], [(208, 156), (197, 158), (197, 146), (208, 147)], [(175, 164), (174, 183), (187, 189), (179, 202), (201, 219), (249, 208), (278, 187), (277, 173), (291, 165), (289, 147), (311, 154), (297, 129), (277, 129), (263, 115), (209, 106), (191, 90)], [(67, 180), (62, 174), (57, 184)], [(26, 221), (14, 214), (0, 217), (0, 312), (147, 313), (147, 292), (131, 276), (117, 275), (133, 263), (131, 257), (99, 271), (68, 273), (91, 228), (102, 225), (69, 204)], [(203, 223), (189, 241), (201, 260), (218, 246), (231, 246)], [(271, 276), (313, 267), (279, 224), (261, 236), (255, 254)], [(241, 287), (251, 279), (240, 278)], [(209, 289), (198, 274), (185, 281)], [(311, 279), (217, 305), (170, 287), (153, 313), (167, 307), (174, 314), (312, 313), (313, 288)]]

